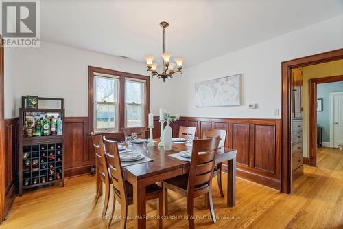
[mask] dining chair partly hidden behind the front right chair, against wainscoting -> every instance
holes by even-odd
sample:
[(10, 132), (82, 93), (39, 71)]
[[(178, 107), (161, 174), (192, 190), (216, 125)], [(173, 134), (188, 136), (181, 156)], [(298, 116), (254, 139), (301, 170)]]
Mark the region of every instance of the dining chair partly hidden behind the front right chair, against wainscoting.
[[(215, 138), (220, 136), (219, 147), (225, 146), (226, 131), (222, 129), (204, 129), (201, 138)], [(217, 183), (220, 191), (220, 196), (224, 197), (223, 187), (222, 187), (222, 162), (215, 165), (213, 171), (213, 177), (217, 177)]]

